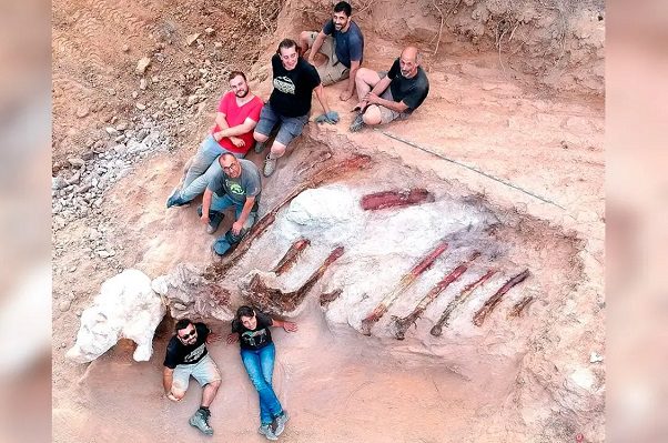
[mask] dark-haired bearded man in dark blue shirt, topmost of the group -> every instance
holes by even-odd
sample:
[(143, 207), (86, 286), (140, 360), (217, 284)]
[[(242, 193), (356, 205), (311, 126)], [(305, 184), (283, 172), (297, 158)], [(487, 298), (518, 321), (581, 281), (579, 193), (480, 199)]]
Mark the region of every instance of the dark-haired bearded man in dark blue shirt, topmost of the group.
[(352, 21), (353, 8), (345, 1), (334, 6), (332, 20), (320, 32), (304, 31), (300, 34), (300, 48), (305, 53), (311, 48), (308, 63), (315, 66), (315, 54), (327, 58), (324, 64), (315, 67), (323, 85), (348, 79), (347, 88), (338, 97), (346, 101), (355, 91), (355, 74), (362, 63), (364, 37), (357, 23)]

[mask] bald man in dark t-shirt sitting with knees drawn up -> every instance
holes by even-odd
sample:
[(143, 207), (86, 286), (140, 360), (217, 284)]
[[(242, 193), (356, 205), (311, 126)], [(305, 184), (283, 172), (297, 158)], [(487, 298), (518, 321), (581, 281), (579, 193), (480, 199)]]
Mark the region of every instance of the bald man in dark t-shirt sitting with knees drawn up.
[(360, 102), (355, 109), (360, 113), (351, 124), (352, 132), (365, 124), (376, 125), (405, 119), (423, 103), (429, 92), (429, 81), (419, 62), (417, 48), (408, 47), (394, 61), (387, 74), (366, 68), (357, 71), (355, 83)]

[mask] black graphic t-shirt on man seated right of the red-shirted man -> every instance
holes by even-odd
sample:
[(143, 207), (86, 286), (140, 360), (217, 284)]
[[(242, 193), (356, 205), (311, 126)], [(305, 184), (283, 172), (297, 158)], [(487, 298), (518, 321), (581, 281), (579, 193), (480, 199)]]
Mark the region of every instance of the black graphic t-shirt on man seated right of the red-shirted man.
[(272, 57), (274, 90), (269, 102), (274, 112), (284, 117), (306, 115), (311, 111), (311, 95), (320, 84), (320, 75), (307, 61), (297, 60), (292, 71), (283, 68), (281, 57)]

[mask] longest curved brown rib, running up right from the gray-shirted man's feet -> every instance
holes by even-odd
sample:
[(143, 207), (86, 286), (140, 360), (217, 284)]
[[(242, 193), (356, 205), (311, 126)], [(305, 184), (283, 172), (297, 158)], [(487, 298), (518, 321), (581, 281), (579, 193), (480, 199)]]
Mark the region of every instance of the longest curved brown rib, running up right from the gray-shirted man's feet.
[[(323, 163), (331, 163), (328, 160)], [(265, 214), (249, 232), (249, 234), (239, 243), (236, 249), (226, 258), (223, 258), (221, 263), (215, 263), (206, 270), (206, 278), (210, 280), (222, 279), (227, 271), (247, 252), (257, 239), (266, 229), (274, 222), (276, 214), (283, 207), (290, 203), (295, 197), (306, 189), (317, 188), (324, 183), (343, 180), (348, 174), (370, 168), (372, 164), (371, 157), (362, 154), (353, 154), (338, 162), (325, 165), (316, 171), (311, 178), (300, 183), (292, 192), (287, 194), (279, 204), (276, 204), (267, 214)]]

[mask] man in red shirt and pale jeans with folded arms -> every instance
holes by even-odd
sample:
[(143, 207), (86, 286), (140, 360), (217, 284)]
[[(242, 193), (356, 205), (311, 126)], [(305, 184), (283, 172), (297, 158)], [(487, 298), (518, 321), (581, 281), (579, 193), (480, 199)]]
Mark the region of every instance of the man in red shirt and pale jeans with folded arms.
[(255, 142), (253, 129), (264, 103), (251, 93), (243, 72), (231, 72), (229, 81), (231, 91), (221, 99), (215, 124), (190, 161), (183, 183), (168, 199), (168, 208), (186, 204), (204, 192), (209, 181), (221, 172), (215, 161), (220, 154), (229, 152), (236, 158), (244, 158)]

